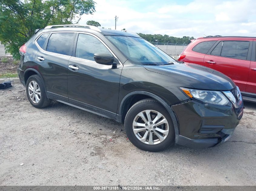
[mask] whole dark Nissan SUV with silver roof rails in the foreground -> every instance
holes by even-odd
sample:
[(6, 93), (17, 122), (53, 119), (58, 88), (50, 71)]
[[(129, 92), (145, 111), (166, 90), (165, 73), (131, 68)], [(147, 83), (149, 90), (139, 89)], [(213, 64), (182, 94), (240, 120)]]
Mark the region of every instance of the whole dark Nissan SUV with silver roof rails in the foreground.
[(230, 78), (179, 62), (136, 33), (47, 26), (20, 54), (18, 76), (34, 107), (54, 99), (114, 119), (146, 151), (173, 143), (219, 145), (243, 115), (242, 96)]

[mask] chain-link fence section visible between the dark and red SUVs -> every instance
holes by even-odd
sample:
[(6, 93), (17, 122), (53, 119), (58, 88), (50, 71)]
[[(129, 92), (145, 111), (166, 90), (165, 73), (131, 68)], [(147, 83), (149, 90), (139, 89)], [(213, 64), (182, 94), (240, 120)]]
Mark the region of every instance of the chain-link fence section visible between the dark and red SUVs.
[(160, 48), (162, 51), (167, 53), (170, 56), (177, 57), (181, 52), (188, 46), (187, 44), (178, 44), (178, 43), (157, 43), (157, 42), (150, 42), (151, 44), (154, 44), (158, 48)]

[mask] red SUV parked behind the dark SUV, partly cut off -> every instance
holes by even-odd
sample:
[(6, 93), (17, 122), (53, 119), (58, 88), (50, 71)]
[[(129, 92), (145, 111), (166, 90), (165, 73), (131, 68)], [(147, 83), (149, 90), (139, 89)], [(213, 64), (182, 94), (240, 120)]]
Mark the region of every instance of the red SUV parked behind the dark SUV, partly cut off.
[(236, 83), (244, 100), (256, 102), (256, 37), (200, 37), (191, 40), (178, 60), (222, 72)]

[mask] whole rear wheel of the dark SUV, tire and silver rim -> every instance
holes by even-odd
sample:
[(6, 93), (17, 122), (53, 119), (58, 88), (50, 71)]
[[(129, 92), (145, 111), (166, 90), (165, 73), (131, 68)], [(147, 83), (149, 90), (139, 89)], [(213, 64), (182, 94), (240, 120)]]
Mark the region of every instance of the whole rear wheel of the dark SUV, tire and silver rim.
[(32, 75), (28, 78), (26, 92), (29, 102), (36, 108), (47, 107), (52, 101), (47, 98), (44, 81), (38, 75)]

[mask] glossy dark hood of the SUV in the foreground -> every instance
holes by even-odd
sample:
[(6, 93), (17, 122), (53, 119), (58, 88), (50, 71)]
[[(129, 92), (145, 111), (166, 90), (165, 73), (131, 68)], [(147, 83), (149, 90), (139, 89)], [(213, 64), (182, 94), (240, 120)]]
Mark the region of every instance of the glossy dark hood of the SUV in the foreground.
[(182, 81), (186, 81), (196, 89), (231, 90), (236, 87), (231, 78), (205, 66), (184, 63), (174, 65), (143, 65), (148, 71), (157, 72)]

